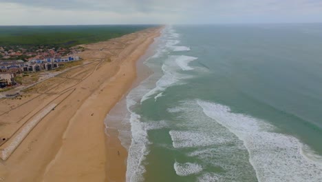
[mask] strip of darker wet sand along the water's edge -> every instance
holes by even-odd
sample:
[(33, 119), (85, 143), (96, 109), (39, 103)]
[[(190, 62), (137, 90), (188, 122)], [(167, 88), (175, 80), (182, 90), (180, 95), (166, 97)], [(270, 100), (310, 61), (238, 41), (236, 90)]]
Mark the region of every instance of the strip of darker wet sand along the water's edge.
[[(154, 46), (152, 46), (154, 45)], [(136, 88), (140, 84), (141, 81), (147, 79), (153, 72), (149, 69), (147, 65), (144, 64), (149, 57), (155, 54), (155, 43), (150, 45), (149, 50), (145, 52), (142, 57), (136, 62), (136, 79), (133, 81), (131, 89)], [(127, 165), (127, 153), (128, 148), (131, 142), (131, 136), (125, 139), (125, 143), (121, 143), (119, 132), (118, 130), (123, 130), (126, 132), (131, 132), (131, 127), (129, 123), (121, 123), (123, 119), (125, 119), (127, 114), (130, 114), (127, 110), (127, 101), (126, 97), (127, 94), (131, 91), (128, 90), (126, 94), (123, 95), (122, 99), (116, 103), (117, 105), (114, 106), (109, 112), (109, 115), (113, 117), (110, 119), (109, 117), (106, 118), (105, 124), (107, 124), (108, 128), (105, 130), (107, 134), (107, 174), (109, 177), (109, 181), (117, 181), (117, 174), (118, 171), (125, 171), (126, 172), (126, 165)], [(124, 141), (123, 141), (124, 142)], [(126, 145), (126, 147), (125, 147)], [(118, 154), (118, 156), (116, 156)], [(111, 156), (111, 157), (109, 157)], [(115, 156), (115, 157), (114, 157)], [(117, 165), (115, 165), (117, 164)], [(123, 165), (125, 164), (125, 165)], [(115, 175), (116, 174), (116, 175)], [(125, 181), (125, 179), (122, 179)]]

